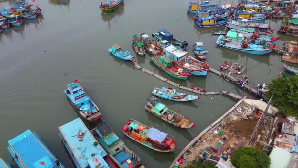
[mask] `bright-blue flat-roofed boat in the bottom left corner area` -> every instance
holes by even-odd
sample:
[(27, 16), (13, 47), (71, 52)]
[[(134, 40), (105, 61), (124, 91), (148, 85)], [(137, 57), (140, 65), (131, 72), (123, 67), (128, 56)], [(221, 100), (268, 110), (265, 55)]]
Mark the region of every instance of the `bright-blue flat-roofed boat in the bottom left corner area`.
[(7, 149), (19, 168), (65, 168), (38, 135), (29, 129), (8, 140)]

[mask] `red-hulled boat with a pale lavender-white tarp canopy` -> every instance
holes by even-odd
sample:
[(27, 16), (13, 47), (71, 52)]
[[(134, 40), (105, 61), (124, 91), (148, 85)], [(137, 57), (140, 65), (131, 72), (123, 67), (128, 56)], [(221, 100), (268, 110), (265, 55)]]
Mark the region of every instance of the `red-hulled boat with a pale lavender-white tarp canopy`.
[(123, 133), (132, 140), (157, 152), (172, 152), (177, 148), (176, 141), (170, 138), (168, 134), (134, 119), (130, 119), (124, 125)]

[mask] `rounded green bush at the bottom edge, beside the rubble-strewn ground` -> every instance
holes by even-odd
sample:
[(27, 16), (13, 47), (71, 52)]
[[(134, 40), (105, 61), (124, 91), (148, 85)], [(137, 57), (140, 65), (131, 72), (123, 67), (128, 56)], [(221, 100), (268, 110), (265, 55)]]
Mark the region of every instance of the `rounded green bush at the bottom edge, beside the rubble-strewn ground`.
[(256, 148), (243, 147), (233, 154), (232, 164), (236, 168), (269, 168), (270, 158)]

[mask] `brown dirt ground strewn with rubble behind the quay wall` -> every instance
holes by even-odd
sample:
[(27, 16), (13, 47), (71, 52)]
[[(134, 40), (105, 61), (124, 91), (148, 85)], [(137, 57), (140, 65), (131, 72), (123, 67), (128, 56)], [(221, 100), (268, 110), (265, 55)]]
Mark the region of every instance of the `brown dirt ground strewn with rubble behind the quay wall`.
[[(185, 161), (184, 165), (198, 159), (203, 150), (207, 150), (212, 155), (220, 156), (227, 149), (230, 150), (228, 155), (231, 155), (236, 148), (248, 146), (257, 122), (258, 119), (254, 117), (253, 107), (246, 103), (240, 104), (217, 127), (208, 131), (189, 148), (188, 152), (182, 156)], [(262, 126), (258, 134), (265, 135)], [(263, 139), (264, 135), (261, 136), (260, 140)], [(223, 143), (220, 147), (221, 151), (210, 150), (219, 141)]]

